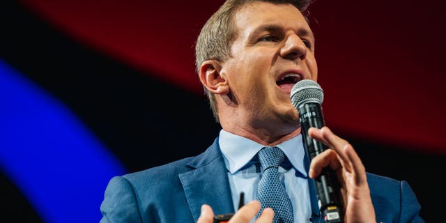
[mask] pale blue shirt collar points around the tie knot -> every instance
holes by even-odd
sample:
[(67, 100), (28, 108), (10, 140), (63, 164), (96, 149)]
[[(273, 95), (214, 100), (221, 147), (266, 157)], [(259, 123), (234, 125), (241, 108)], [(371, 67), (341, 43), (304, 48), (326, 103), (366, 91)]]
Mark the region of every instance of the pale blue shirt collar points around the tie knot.
[[(252, 160), (261, 148), (265, 147), (251, 139), (240, 137), (231, 132), (226, 132), (225, 130), (220, 130), (218, 143), (220, 144), (220, 149), (224, 156), (226, 168), (231, 174), (242, 169), (242, 167)], [(298, 134), (298, 136), (276, 146), (284, 151), (294, 169), (306, 177), (307, 172), (304, 167), (305, 151), (302, 144), (302, 135)]]

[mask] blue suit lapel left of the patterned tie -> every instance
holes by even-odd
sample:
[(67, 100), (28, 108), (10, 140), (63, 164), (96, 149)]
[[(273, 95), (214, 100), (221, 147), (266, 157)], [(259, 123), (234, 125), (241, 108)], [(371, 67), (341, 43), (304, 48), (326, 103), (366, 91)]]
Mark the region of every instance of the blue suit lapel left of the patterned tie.
[(188, 164), (194, 169), (178, 175), (195, 222), (205, 203), (216, 215), (234, 212), (228, 175), (217, 140)]

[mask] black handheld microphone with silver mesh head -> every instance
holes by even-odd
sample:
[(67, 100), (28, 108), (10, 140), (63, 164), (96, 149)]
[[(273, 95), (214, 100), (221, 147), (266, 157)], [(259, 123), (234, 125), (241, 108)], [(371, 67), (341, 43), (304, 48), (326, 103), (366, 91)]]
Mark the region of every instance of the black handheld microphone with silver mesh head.
[[(304, 148), (310, 160), (328, 147), (308, 135), (309, 128), (321, 129), (325, 125), (322, 113), (323, 91), (318, 83), (302, 79), (294, 84), (290, 95), (291, 103), (298, 109), (300, 132)], [(314, 179), (318, 196), (318, 205), (325, 222), (343, 222), (341, 192), (336, 174), (330, 167), (325, 167)]]

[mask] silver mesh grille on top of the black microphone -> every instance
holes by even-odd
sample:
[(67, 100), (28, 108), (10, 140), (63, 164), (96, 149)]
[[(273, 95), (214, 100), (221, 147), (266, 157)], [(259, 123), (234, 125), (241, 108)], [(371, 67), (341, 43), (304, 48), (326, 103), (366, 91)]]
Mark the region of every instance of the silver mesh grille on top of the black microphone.
[(291, 103), (298, 108), (304, 102), (316, 102), (319, 105), (323, 102), (323, 91), (321, 86), (311, 79), (302, 79), (295, 83), (291, 89)]

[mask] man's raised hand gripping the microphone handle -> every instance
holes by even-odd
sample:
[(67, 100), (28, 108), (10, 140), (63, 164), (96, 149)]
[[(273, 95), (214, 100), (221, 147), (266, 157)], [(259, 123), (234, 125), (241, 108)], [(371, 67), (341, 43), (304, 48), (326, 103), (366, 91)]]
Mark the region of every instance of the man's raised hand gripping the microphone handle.
[(344, 222), (376, 222), (365, 167), (353, 146), (337, 137), (328, 127), (310, 128), (309, 136), (331, 149), (316, 155), (310, 164), (309, 177), (316, 178), (323, 167), (336, 171), (344, 199)]

